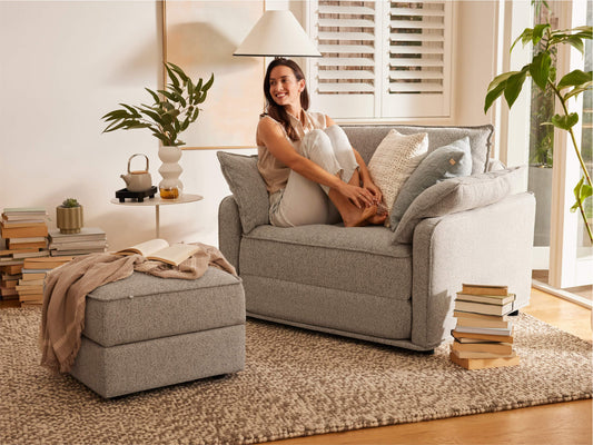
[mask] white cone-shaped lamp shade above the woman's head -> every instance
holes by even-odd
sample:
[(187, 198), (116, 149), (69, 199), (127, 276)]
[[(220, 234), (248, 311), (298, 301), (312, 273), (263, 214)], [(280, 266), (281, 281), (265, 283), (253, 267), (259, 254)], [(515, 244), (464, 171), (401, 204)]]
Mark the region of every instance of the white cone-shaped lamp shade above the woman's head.
[(266, 11), (234, 56), (322, 57), (288, 10)]

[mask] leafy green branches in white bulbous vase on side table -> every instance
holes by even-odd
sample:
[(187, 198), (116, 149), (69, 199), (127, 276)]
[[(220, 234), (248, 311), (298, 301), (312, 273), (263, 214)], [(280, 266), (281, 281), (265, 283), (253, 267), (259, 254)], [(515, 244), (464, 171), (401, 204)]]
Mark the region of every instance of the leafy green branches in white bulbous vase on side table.
[(146, 88), (152, 97), (152, 105), (120, 103), (122, 108), (108, 112), (101, 119), (108, 122), (103, 132), (146, 128), (162, 142), (159, 149), (159, 158), (164, 162), (159, 169), (164, 178), (159, 182), (160, 196), (161, 198), (177, 198), (182, 189), (179, 180), (182, 169), (177, 164), (181, 158), (179, 147), (185, 145), (179, 139), (179, 135), (198, 118), (200, 112), (198, 106), (206, 100), (214, 82), (214, 75), (207, 82), (202, 79), (192, 81), (181, 68), (174, 63), (167, 62), (165, 68), (170, 79), (166, 89), (154, 91)]

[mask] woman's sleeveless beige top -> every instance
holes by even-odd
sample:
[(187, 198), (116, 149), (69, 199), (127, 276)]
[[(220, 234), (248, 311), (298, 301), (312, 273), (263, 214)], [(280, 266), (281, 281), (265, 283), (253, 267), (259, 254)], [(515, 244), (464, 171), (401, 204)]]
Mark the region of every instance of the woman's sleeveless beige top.
[[(290, 123), (293, 125), (293, 128), (296, 130), (297, 135), (300, 139), (308, 134), (310, 130), (315, 129), (324, 129), (327, 127), (327, 122), (325, 119), (325, 115), (322, 112), (309, 112), (303, 110), (303, 113), (305, 116), (304, 120), (305, 123), (300, 122), (299, 119), (295, 118), (291, 115), (288, 115), (290, 119)], [(264, 115), (261, 119), (271, 119), (276, 123), (278, 123), (283, 128), (284, 136), (286, 139), (293, 145), (296, 151), (298, 151), (300, 147), (300, 139), (299, 140), (290, 140), (288, 135), (286, 134), (286, 130), (281, 126), (280, 122), (273, 119), (268, 115)], [(268, 189), (268, 192), (271, 195), (283, 188), (286, 187), (286, 182), (288, 181), (288, 175), (290, 174), (290, 168), (285, 166), (283, 162), (280, 162), (278, 159), (274, 157), (269, 152), (269, 150), (266, 148), (266, 146), (263, 145), (260, 140), (257, 140), (257, 155), (259, 157), (257, 161), (257, 169), (259, 170), (259, 174), (264, 178), (264, 181), (266, 182), (266, 188)]]

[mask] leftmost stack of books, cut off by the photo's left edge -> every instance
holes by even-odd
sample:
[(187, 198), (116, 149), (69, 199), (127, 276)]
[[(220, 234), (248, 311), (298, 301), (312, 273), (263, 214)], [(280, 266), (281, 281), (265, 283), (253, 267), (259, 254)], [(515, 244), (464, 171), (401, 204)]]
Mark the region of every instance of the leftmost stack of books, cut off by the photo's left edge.
[(0, 296), (18, 299), (26, 258), (47, 257), (48, 212), (38, 207), (4, 208), (0, 219)]

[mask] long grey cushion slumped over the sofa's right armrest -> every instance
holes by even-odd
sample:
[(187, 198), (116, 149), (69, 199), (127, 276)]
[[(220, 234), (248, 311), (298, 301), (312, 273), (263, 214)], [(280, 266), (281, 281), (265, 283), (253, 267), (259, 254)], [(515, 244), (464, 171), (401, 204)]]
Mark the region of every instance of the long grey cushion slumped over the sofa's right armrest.
[(399, 221), (394, 243), (411, 244), (416, 225), (432, 218), (497, 202), (522, 190), (526, 168), (513, 167), (486, 174), (446, 179), (424, 190)]

